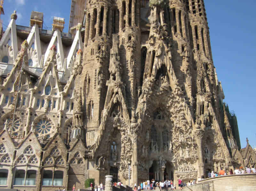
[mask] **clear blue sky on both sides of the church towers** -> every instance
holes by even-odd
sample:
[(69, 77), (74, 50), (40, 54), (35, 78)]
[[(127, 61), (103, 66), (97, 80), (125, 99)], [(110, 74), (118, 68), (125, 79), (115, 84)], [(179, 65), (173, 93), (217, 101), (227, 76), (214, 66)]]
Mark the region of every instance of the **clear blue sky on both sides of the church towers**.
[[(234, 110), (241, 147), (256, 145), (255, 122), (255, 56), (256, 25), (255, 0), (204, 0), (212, 47), (213, 63), (225, 94), (224, 101)], [(44, 13), (44, 27), (52, 27), (54, 16), (65, 18), (64, 32), (68, 32), (71, 0), (5, 0), (2, 15), (8, 26), (13, 10), (17, 11), (17, 25), (29, 26), (31, 11)], [(3, 26), (6, 29), (6, 26)], [(255, 117), (256, 118), (256, 117)]]

